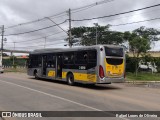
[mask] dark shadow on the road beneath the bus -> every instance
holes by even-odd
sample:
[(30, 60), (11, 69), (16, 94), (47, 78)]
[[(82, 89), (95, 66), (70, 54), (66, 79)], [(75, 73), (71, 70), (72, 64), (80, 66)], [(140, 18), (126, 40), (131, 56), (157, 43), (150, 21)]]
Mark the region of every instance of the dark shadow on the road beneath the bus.
[[(29, 78), (32, 80), (37, 80), (35, 78)], [(59, 80), (50, 80), (50, 79), (38, 79), (39, 81), (45, 81), (45, 82), (52, 82), (52, 83), (56, 83), (56, 84), (62, 84), (62, 85), (67, 85), (67, 83), (65, 81), (59, 81)], [(118, 90), (118, 89), (122, 89), (119, 86), (115, 86), (112, 84), (82, 84), (82, 83), (75, 83), (74, 86), (71, 87), (81, 87), (81, 88), (86, 88), (86, 89), (93, 89), (93, 90)]]

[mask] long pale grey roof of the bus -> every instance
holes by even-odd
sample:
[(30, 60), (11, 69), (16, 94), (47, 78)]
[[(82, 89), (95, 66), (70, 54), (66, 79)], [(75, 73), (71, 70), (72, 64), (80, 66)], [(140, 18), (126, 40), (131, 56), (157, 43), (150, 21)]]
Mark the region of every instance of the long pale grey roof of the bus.
[(68, 52), (68, 51), (81, 51), (81, 50), (88, 50), (88, 49), (98, 49), (100, 47), (111, 47), (111, 48), (123, 48), (119, 45), (93, 45), (93, 46), (82, 46), (82, 47), (74, 47), (74, 48), (46, 48), (46, 49), (36, 49), (30, 54), (37, 54), (37, 53), (50, 53), (50, 52)]

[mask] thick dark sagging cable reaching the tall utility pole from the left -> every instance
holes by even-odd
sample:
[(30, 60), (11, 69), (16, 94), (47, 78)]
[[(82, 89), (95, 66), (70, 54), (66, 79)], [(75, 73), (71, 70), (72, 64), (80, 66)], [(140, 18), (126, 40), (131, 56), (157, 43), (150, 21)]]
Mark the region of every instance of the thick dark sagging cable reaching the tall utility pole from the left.
[[(57, 25), (61, 25), (63, 23), (65, 23), (67, 20), (57, 24)], [(32, 31), (27, 31), (27, 32), (22, 32), (22, 33), (15, 33), (15, 34), (8, 34), (8, 35), (4, 35), (4, 36), (13, 36), (13, 35), (22, 35), (22, 34), (27, 34), (27, 33), (32, 33), (32, 32), (37, 32), (37, 31), (40, 31), (40, 30), (44, 30), (44, 29), (48, 29), (48, 28), (51, 28), (51, 27), (55, 27), (57, 25), (51, 25), (51, 26), (48, 26), (48, 27), (44, 27), (44, 28), (40, 28), (40, 29), (36, 29), (36, 30), (32, 30)]]

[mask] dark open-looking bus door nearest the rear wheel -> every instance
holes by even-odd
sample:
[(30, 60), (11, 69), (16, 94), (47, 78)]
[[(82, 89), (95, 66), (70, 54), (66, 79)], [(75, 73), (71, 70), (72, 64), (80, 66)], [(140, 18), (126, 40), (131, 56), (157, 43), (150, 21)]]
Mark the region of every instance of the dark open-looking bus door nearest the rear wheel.
[(57, 54), (56, 58), (56, 77), (62, 78), (62, 54)]

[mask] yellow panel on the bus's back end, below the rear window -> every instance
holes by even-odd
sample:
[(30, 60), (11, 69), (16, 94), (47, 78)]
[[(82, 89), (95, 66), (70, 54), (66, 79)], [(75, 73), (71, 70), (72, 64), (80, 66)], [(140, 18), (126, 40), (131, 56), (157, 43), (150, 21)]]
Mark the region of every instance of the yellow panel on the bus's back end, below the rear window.
[(123, 72), (124, 72), (124, 60), (123, 60), (123, 63), (121, 65), (108, 64), (106, 59), (104, 61), (105, 61), (107, 76), (117, 77), (117, 76), (121, 76), (123, 74)]

